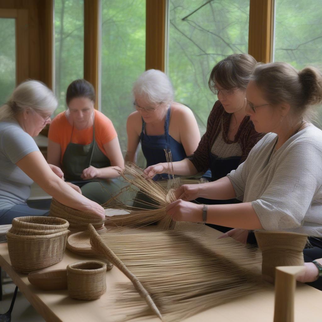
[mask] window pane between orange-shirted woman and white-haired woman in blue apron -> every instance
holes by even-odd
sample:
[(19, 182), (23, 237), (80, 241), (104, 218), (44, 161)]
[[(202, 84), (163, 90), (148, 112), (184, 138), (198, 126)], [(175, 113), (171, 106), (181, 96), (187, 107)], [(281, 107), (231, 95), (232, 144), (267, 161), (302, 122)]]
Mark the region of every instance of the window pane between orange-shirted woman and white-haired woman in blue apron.
[(123, 154), (133, 82), (145, 70), (145, 0), (101, 1), (101, 111), (111, 119)]

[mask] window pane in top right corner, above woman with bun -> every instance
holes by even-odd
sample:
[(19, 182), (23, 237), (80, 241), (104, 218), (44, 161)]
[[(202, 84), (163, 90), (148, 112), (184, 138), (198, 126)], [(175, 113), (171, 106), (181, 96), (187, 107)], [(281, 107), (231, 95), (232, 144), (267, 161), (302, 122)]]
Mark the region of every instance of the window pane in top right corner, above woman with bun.
[(322, 6), (316, 0), (275, 0), (273, 60), (297, 69), (321, 65)]

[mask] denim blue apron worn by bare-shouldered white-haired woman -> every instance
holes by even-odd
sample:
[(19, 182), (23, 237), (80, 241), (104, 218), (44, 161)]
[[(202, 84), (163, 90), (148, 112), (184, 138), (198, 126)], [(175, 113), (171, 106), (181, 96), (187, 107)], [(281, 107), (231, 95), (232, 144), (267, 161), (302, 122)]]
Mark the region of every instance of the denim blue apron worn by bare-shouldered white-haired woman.
[[(166, 113), (166, 121), (164, 123), (164, 134), (162, 135), (146, 135), (145, 134), (145, 122), (142, 118), (142, 131), (140, 134), (140, 142), (142, 146), (142, 152), (147, 159), (147, 167), (153, 166), (157, 163), (166, 162), (166, 154), (164, 149), (169, 149), (172, 154), (172, 160), (181, 161), (187, 155), (183, 145), (177, 142), (173, 137), (169, 135), (169, 121), (170, 121), (170, 108)], [(167, 179), (167, 174), (156, 175), (153, 179)]]

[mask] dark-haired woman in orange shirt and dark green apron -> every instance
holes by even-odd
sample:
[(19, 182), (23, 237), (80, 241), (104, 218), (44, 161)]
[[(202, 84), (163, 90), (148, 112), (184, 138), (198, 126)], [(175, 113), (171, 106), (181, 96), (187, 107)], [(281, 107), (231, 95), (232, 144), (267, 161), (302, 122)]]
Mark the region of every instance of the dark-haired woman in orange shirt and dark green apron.
[(123, 185), (116, 179), (116, 168), (124, 167), (117, 133), (111, 120), (94, 109), (95, 91), (88, 81), (71, 82), (66, 103), (68, 109), (49, 129), (48, 163), (61, 167), (67, 181), (102, 204)]

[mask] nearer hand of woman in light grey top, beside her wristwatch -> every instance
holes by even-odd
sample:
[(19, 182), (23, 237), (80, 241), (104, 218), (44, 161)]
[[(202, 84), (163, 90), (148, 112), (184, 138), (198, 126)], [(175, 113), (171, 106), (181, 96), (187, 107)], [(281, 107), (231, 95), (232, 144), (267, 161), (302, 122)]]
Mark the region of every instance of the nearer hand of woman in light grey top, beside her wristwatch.
[(182, 199), (176, 200), (166, 207), (166, 212), (173, 221), (202, 222), (203, 204), (193, 204)]

